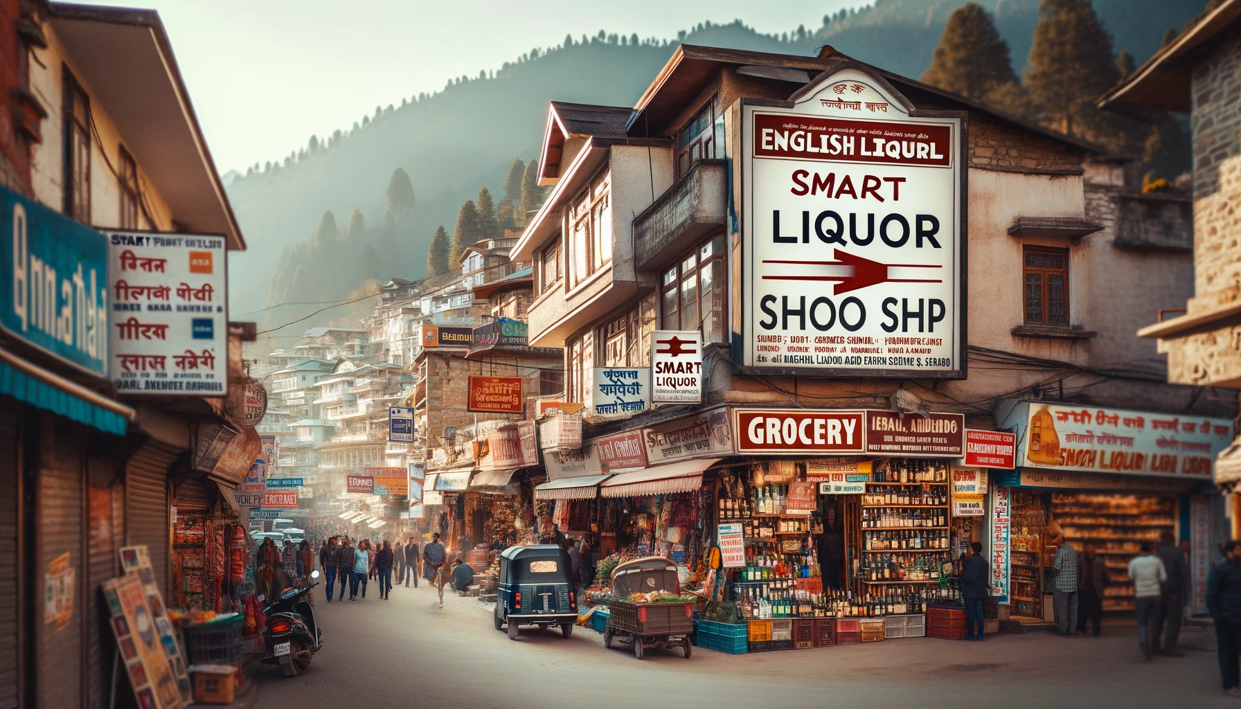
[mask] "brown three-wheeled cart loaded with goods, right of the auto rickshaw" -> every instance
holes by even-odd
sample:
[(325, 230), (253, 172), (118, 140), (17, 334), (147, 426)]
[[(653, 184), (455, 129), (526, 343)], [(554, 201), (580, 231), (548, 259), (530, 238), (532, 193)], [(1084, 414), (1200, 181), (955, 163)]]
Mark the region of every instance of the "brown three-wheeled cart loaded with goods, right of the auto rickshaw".
[(612, 600), (608, 601), (608, 625), (603, 646), (612, 647), (616, 638), (633, 641), (633, 654), (642, 659), (650, 648), (680, 647), (690, 657), (690, 633), (694, 632), (694, 603), (635, 603), (630, 594), (650, 591), (680, 592), (676, 564), (664, 556), (644, 556), (618, 564), (612, 571)]

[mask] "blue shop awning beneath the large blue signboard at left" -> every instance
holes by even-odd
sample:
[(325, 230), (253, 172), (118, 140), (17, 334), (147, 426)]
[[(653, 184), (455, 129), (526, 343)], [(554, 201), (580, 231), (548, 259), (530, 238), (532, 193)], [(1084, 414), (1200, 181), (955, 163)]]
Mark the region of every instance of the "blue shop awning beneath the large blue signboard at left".
[(124, 436), (129, 422), (138, 416), (133, 409), (119, 401), (113, 401), (2, 349), (0, 349), (0, 394), (7, 394), (32, 406), (115, 436)]

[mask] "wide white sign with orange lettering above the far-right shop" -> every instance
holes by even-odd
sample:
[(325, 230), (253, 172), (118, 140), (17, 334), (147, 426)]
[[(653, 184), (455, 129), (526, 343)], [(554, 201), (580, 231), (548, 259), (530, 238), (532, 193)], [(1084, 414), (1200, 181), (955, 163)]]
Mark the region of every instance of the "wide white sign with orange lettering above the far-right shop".
[(1232, 421), (1123, 409), (1024, 402), (1008, 416), (1019, 466), (1057, 471), (1211, 479), (1232, 442)]

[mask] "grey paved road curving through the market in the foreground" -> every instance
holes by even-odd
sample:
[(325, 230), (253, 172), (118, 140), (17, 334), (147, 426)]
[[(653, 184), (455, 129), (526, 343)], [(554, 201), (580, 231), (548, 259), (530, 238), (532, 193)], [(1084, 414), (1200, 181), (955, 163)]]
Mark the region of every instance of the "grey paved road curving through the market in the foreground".
[[(575, 628), (491, 626), (490, 608), (426, 586), (398, 587), (381, 601), (323, 602), (324, 649), (287, 679), (258, 666), (238, 702), (254, 709), (428, 707), (457, 709), (822, 708), (856, 707), (1241, 707), (1222, 697), (1210, 636), (1186, 632), (1185, 658), (1142, 662), (1133, 627), (1102, 638), (998, 634), (984, 643), (931, 638), (730, 656), (695, 648), (604, 649), (602, 636)], [(1108, 637), (1107, 633), (1111, 633)], [(848, 704), (846, 704), (848, 703)]]

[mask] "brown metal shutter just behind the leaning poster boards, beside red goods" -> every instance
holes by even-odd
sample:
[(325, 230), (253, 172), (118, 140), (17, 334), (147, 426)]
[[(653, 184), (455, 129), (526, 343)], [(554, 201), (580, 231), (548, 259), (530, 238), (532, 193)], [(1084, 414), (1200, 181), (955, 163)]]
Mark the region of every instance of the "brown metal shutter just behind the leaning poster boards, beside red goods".
[(160, 594), (168, 598), (168, 469), (182, 451), (146, 441), (125, 464), (125, 545), (145, 544)]

